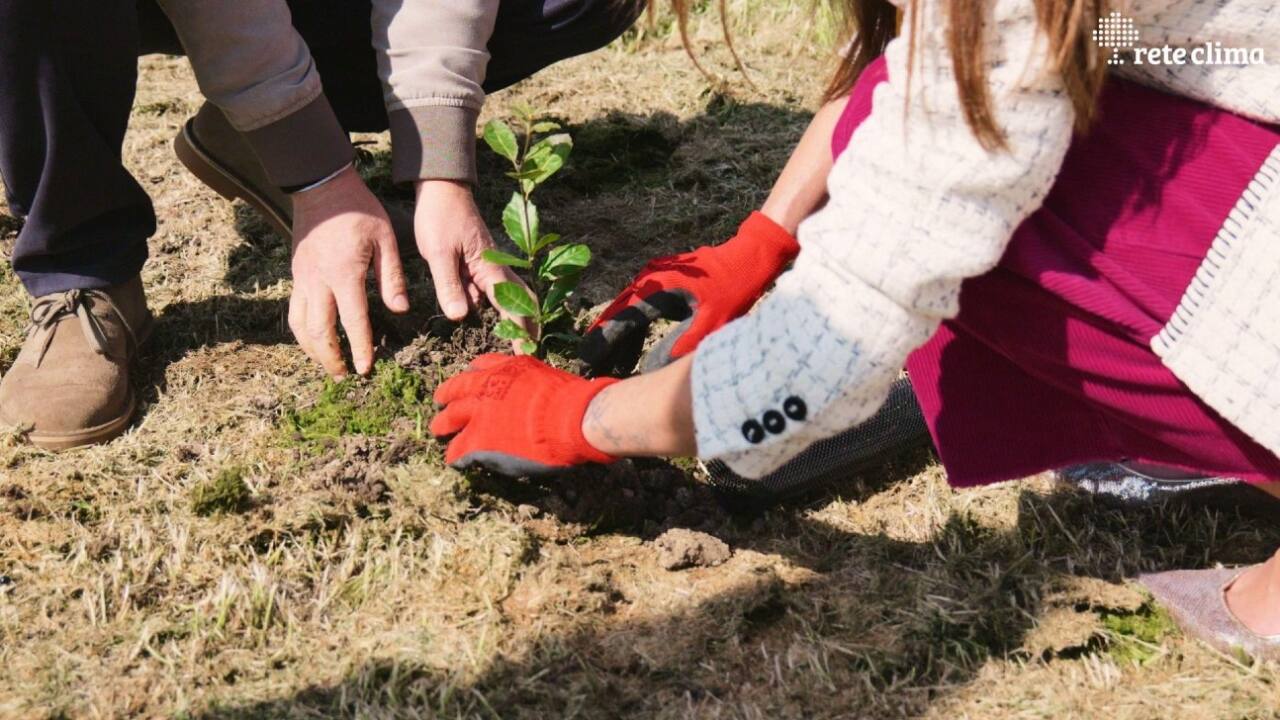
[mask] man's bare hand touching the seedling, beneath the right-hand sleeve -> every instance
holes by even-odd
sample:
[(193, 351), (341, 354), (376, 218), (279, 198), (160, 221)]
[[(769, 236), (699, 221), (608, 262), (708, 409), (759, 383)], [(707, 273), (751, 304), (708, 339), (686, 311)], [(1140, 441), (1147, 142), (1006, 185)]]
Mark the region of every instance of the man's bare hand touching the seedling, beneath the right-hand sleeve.
[(477, 309), (485, 296), (497, 307), (494, 286), (521, 282), (511, 268), (483, 258), (494, 246), (493, 236), (466, 183), (419, 182), (413, 232), (417, 250), (431, 268), (440, 310), (451, 320), (466, 318), (468, 309)]

